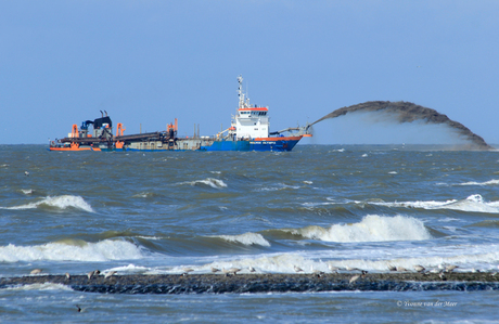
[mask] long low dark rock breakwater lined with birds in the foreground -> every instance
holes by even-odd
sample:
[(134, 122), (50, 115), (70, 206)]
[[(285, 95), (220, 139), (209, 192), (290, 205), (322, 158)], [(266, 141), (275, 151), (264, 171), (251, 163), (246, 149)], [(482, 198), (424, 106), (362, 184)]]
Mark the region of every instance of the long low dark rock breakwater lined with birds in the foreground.
[(217, 274), (115, 275), (113, 281), (87, 275), (37, 275), (0, 278), (0, 288), (15, 285), (54, 283), (78, 291), (101, 294), (225, 294), (225, 293), (304, 293), (304, 291), (419, 291), (419, 290), (499, 290), (499, 276), (490, 273), (449, 273), (447, 281), (438, 274), (373, 273), (349, 283), (351, 274)]

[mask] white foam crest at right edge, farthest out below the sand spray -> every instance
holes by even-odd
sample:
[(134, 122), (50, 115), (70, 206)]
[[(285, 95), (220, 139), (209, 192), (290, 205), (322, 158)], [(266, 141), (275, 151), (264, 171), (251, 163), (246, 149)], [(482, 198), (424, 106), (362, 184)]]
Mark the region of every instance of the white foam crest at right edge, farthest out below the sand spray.
[[(361, 203), (361, 202), (356, 202)], [(397, 203), (383, 203), (383, 202), (369, 202), (372, 205), (387, 206), (387, 207), (406, 207), (406, 208), (422, 208), (422, 209), (452, 209), (472, 212), (499, 212), (499, 202), (485, 202), (481, 195), (471, 195), (465, 199), (446, 200), (446, 202), (397, 202)]]

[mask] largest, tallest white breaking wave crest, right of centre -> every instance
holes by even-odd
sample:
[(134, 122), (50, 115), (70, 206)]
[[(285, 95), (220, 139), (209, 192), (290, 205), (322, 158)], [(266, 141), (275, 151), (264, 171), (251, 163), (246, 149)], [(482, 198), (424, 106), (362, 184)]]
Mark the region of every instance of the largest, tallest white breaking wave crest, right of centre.
[(368, 215), (359, 223), (334, 224), (329, 229), (312, 225), (290, 232), (324, 242), (421, 241), (432, 238), (422, 221), (405, 216)]

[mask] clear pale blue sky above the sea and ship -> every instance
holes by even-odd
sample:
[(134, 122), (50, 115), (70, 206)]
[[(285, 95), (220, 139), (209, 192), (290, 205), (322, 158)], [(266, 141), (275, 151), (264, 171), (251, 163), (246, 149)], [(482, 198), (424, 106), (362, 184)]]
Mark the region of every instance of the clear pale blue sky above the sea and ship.
[[(0, 0), (0, 144), (64, 138), (100, 111), (125, 134), (178, 118), (179, 135), (212, 135), (238, 108), (239, 75), (271, 130), (407, 101), (499, 143), (498, 16), (496, 0)], [(457, 140), (361, 114), (314, 131), (302, 143)]]

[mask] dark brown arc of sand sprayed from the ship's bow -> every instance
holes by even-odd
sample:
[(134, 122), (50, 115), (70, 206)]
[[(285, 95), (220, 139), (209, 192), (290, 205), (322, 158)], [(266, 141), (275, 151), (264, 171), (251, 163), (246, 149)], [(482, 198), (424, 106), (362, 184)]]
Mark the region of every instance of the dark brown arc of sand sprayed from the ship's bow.
[[(343, 107), (336, 109), (324, 117), (314, 121), (311, 125), (315, 125), (319, 121), (330, 118), (336, 118), (348, 113), (354, 112), (386, 112), (396, 115), (397, 121), (402, 122), (412, 122), (414, 120), (425, 120), (427, 124), (445, 124), (452, 129), (457, 130), (460, 134), (469, 139), (478, 150), (494, 150), (488, 145), (484, 139), (474, 132), (472, 132), (464, 125), (451, 120), (447, 115), (443, 115), (435, 109), (426, 108), (420, 105), (417, 105), (411, 102), (389, 102), (389, 101), (368, 101), (357, 105), (351, 105), (348, 107)], [(311, 126), (310, 125), (310, 126)]]

